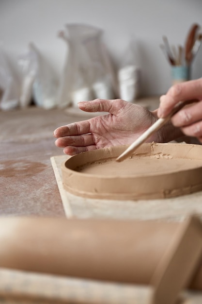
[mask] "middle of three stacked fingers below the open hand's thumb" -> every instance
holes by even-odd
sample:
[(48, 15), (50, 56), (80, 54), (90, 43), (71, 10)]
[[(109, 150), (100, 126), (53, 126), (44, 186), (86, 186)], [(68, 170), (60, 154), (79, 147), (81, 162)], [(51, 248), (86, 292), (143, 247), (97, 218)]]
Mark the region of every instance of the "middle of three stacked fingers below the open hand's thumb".
[(63, 137), (59, 137), (55, 141), (55, 145), (59, 148), (64, 148), (67, 146), (86, 147), (86, 146), (91, 146), (93, 144), (94, 141), (92, 134), (85, 134), (78, 136), (63, 136)]

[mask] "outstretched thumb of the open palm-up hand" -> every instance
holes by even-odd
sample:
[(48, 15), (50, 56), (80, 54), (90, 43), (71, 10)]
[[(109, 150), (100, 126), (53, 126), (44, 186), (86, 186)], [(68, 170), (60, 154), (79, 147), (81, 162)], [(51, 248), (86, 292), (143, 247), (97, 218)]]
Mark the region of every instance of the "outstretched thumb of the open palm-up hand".
[(109, 112), (110, 114), (117, 115), (120, 109), (124, 107), (126, 101), (120, 99), (95, 99), (93, 101), (78, 102), (80, 110), (85, 112)]

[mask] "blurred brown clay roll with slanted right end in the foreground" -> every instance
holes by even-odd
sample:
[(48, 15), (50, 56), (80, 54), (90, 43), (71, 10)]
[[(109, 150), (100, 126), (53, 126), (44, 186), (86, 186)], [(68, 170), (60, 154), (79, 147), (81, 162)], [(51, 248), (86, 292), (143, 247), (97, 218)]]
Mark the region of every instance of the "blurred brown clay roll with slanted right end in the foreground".
[(0, 268), (128, 284), (152, 282), (157, 290), (167, 273), (163, 286), (171, 285), (173, 291), (185, 285), (202, 290), (199, 219), (174, 223), (16, 217), (1, 218), (0, 231)]

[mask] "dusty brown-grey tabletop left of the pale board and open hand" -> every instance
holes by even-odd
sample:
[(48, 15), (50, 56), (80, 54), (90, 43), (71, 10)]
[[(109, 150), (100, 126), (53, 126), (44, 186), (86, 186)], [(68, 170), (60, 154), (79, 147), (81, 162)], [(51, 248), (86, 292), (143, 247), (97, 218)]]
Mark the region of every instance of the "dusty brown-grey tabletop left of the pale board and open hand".
[(65, 216), (50, 163), (62, 150), (52, 134), (83, 119), (36, 107), (0, 112), (0, 216)]

